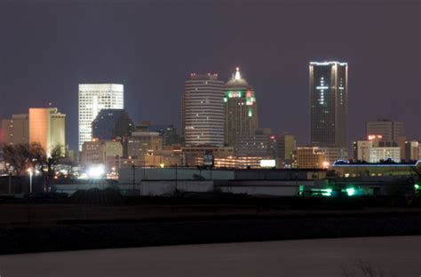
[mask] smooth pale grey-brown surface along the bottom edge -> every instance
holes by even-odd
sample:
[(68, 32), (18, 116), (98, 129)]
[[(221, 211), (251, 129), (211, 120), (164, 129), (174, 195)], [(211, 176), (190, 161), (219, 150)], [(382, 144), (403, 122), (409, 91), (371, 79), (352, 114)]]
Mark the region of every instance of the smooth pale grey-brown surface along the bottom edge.
[(0, 274), (7, 277), (417, 277), (421, 274), (419, 249), (421, 236), (83, 250), (0, 256)]

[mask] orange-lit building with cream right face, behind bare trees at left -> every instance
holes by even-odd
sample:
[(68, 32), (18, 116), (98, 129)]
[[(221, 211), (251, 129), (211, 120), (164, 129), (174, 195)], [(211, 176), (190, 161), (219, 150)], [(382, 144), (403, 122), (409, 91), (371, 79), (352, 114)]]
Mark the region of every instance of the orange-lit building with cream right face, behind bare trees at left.
[(49, 156), (55, 146), (62, 146), (65, 155), (66, 115), (55, 107), (29, 108), (29, 143), (39, 143)]

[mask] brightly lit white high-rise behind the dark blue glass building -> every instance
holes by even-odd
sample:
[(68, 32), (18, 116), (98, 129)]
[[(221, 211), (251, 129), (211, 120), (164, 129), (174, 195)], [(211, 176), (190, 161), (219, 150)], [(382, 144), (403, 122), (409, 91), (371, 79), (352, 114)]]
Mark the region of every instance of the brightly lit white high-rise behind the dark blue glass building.
[(79, 151), (92, 139), (92, 122), (104, 108), (124, 108), (123, 84), (79, 84)]

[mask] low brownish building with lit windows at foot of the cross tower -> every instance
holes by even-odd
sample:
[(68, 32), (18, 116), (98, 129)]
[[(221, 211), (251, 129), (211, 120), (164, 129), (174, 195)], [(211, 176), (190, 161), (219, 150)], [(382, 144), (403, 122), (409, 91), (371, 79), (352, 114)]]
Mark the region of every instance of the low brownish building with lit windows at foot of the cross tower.
[(297, 169), (324, 169), (327, 167), (324, 153), (319, 147), (298, 147), (293, 154), (293, 167)]

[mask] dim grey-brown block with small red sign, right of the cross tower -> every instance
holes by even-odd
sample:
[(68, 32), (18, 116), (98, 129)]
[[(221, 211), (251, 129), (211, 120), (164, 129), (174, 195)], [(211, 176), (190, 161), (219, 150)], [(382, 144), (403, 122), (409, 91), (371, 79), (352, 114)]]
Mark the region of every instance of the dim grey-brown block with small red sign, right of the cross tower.
[(403, 123), (389, 119), (379, 119), (366, 123), (366, 138), (370, 135), (379, 135), (383, 141), (396, 141), (404, 137), (405, 127)]

